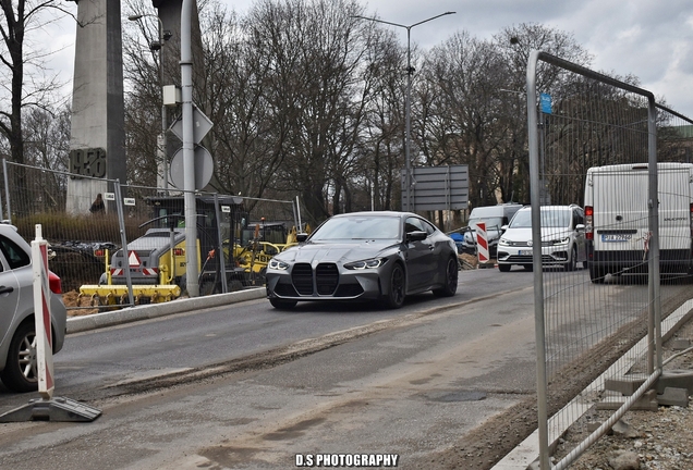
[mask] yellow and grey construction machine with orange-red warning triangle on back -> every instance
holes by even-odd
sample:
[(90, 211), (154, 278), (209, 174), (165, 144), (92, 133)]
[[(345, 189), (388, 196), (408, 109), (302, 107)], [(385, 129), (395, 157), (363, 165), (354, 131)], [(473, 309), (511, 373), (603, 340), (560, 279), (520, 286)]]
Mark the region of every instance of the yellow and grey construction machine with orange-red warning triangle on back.
[[(184, 199), (182, 196), (151, 197), (151, 220), (146, 233), (106, 257), (107, 271), (98, 285), (80, 287), (80, 298), (93, 306), (127, 302), (127, 275), (136, 304), (153, 304), (180, 297), (186, 288)], [(196, 197), (199, 294), (240, 290), (252, 285), (252, 270), (240, 265), (236, 255), (248, 214), (240, 197)]]

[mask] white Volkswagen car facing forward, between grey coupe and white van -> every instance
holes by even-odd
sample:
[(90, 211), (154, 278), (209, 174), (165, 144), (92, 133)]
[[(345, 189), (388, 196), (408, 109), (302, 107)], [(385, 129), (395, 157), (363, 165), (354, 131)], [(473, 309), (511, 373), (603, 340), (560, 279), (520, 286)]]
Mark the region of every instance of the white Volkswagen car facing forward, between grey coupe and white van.
[[(498, 269), (510, 271), (513, 264), (531, 271), (532, 264), (532, 208), (520, 209), (504, 227), (498, 242)], [(585, 214), (581, 207), (542, 207), (542, 264), (562, 265), (573, 271), (578, 262), (587, 262), (585, 250)]]

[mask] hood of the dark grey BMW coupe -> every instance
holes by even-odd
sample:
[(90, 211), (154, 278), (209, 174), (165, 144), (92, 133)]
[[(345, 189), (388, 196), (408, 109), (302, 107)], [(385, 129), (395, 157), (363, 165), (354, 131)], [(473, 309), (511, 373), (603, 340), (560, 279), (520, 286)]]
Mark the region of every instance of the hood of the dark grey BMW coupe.
[(360, 240), (357, 243), (306, 243), (278, 255), (277, 259), (290, 262), (344, 263), (379, 256), (382, 250), (397, 246), (392, 240)]

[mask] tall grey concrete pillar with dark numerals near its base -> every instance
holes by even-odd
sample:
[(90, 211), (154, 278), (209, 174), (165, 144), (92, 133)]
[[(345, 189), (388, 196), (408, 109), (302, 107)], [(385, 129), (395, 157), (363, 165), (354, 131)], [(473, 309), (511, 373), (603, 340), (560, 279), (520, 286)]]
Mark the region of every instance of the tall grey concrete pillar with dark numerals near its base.
[[(66, 210), (88, 214), (105, 180), (126, 183), (120, 0), (77, 2)], [(108, 207), (107, 207), (108, 210)]]

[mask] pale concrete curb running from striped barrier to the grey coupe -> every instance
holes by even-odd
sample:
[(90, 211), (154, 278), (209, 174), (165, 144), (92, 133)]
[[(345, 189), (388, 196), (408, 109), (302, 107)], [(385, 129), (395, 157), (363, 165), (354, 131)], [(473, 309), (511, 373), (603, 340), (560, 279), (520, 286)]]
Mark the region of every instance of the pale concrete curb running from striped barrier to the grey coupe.
[(149, 320), (174, 313), (199, 310), (204, 308), (221, 307), (245, 300), (265, 298), (265, 287), (239, 290), (229, 294), (218, 294), (205, 297), (186, 298), (161, 304), (149, 304), (114, 310), (102, 313), (94, 313), (68, 319), (66, 333), (80, 333), (123, 323), (132, 323), (139, 320)]

